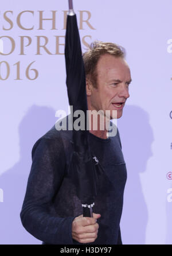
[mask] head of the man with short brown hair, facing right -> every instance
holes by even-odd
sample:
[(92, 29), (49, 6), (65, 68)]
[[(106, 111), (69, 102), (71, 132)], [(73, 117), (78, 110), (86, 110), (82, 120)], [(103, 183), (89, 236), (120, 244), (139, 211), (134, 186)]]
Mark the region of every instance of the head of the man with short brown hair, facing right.
[[(117, 110), (117, 118), (122, 116), (131, 82), (124, 57), (122, 46), (99, 41), (93, 42), (83, 54), (89, 110), (110, 110), (111, 119), (112, 110)], [(123, 103), (121, 107), (119, 103)]]

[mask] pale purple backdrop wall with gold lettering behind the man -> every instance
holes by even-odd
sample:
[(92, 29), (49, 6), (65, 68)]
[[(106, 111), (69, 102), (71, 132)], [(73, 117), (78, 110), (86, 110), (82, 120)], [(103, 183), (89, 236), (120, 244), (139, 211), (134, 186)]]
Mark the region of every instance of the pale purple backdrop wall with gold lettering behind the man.
[[(172, 3), (73, 2), (83, 51), (93, 40), (116, 42), (126, 48), (131, 68), (130, 98), (118, 120), (127, 165), (123, 243), (171, 244)], [(22, 227), (19, 212), (32, 146), (54, 125), (57, 110), (68, 111), (63, 55), (67, 9), (67, 0), (1, 2), (0, 51), (10, 53), (14, 46), (9, 55), (0, 55), (1, 244), (41, 244)], [(54, 24), (44, 20), (41, 29), (41, 15), (53, 14)], [(41, 47), (39, 52), (39, 40), (47, 43), (46, 51)], [(38, 71), (34, 80), (28, 78), (34, 78), (34, 71), (26, 72), (30, 63)]]

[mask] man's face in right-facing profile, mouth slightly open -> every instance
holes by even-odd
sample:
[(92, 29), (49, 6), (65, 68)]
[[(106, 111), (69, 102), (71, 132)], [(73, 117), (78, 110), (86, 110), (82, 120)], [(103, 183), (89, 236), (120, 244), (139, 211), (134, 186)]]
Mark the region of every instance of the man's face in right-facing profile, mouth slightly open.
[(97, 88), (91, 86), (88, 109), (117, 110), (117, 117), (122, 117), (123, 107), (130, 96), (128, 86), (131, 82), (130, 69), (122, 57), (105, 54), (97, 62)]

